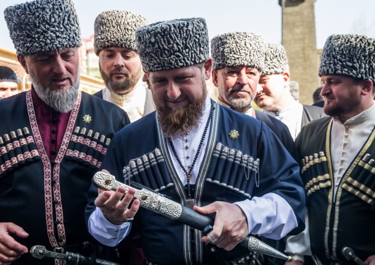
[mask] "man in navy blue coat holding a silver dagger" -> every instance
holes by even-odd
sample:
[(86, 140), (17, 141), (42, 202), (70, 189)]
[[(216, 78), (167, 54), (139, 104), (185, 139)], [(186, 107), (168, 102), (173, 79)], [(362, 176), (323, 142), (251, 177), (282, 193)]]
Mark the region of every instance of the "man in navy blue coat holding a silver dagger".
[(213, 230), (203, 236), (139, 208), (138, 199), (129, 206), (134, 189), (98, 194), (92, 186), (89, 232), (116, 246), (139, 231), (145, 264), (222, 264), (212, 248), (228, 264), (253, 264), (253, 253), (238, 246), (248, 234), (279, 239), (304, 227), (297, 163), (263, 122), (210, 100), (205, 19), (157, 22), (138, 28), (135, 39), (157, 111), (115, 135), (102, 170), (201, 214), (215, 213)]

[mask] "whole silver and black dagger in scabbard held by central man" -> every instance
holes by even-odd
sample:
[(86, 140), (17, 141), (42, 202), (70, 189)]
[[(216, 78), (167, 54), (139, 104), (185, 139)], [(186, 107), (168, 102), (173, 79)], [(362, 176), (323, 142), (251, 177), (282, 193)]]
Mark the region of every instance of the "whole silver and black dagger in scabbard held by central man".
[[(93, 176), (93, 185), (99, 189), (107, 191), (115, 191), (120, 186), (123, 186), (126, 191), (129, 191), (130, 187), (124, 183), (118, 182), (115, 176), (99, 171)], [(163, 216), (177, 220), (185, 225), (189, 225), (192, 228), (200, 231), (208, 225), (213, 226), (214, 219), (211, 217), (200, 214), (186, 206), (179, 204), (178, 202), (172, 201), (166, 198), (162, 194), (159, 194), (149, 189), (135, 189), (135, 198), (139, 199), (140, 206), (156, 213), (162, 214)], [(292, 261), (290, 256), (284, 255), (278, 250), (268, 246), (266, 243), (258, 240), (251, 235), (248, 235), (242, 242), (239, 243), (241, 246), (264, 255), (272, 256), (279, 259), (284, 259), (288, 262)]]

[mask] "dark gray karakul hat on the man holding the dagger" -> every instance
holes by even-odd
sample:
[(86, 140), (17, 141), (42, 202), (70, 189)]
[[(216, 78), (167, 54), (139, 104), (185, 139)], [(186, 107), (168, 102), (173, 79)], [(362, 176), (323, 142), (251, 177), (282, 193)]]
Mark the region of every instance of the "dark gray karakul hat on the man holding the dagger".
[(135, 31), (135, 42), (145, 71), (193, 66), (208, 59), (204, 18), (181, 18), (140, 27)]

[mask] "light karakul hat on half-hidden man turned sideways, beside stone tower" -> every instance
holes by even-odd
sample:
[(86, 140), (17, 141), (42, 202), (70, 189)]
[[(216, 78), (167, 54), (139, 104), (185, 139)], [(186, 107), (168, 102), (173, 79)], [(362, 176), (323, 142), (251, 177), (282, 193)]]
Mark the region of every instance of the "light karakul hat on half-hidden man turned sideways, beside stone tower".
[(263, 75), (289, 73), (287, 52), (281, 44), (267, 43)]

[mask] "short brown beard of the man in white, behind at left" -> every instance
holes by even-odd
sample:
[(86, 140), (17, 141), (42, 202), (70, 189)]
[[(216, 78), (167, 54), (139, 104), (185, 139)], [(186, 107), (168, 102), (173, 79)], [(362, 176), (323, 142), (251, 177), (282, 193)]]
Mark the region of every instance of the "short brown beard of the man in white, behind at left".
[[(107, 75), (102, 70), (102, 67), (99, 64), (99, 71), (102, 75), (102, 78), (104, 80), (105, 85), (107, 88), (115, 93), (115, 94), (125, 94), (127, 91), (129, 91), (131, 88), (133, 88), (136, 83), (138, 83), (139, 78), (141, 77), (141, 68), (139, 67), (138, 71), (135, 74), (130, 74), (129, 72), (126, 73), (127, 78), (125, 80), (115, 80), (113, 81), (111, 79), (111, 73), (110, 75)], [(112, 72), (124, 72), (123, 68), (118, 67), (114, 69)]]

